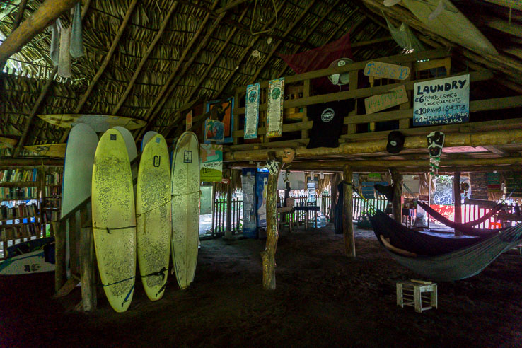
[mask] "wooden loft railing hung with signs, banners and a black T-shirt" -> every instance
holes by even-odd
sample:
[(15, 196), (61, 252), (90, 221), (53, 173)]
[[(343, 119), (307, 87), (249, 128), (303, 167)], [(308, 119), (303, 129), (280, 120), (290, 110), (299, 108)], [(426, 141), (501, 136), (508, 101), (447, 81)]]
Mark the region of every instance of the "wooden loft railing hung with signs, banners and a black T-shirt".
[[(345, 141), (354, 141), (358, 139), (376, 139), (385, 137), (389, 131), (375, 132), (376, 122), (393, 121), (397, 122), (398, 129), (405, 135), (427, 134), (431, 130), (443, 130), (443, 132), (459, 132), (465, 124), (450, 124), (437, 125), (433, 127), (417, 127), (412, 128), (411, 121), (413, 116), (412, 109), (412, 90), (414, 83), (418, 81), (429, 81), (434, 79), (441, 79), (437, 76), (426, 78), (429, 76), (429, 71), (434, 67), (443, 66), (446, 71), (450, 65), (451, 54), (445, 49), (431, 50), (427, 52), (417, 52), (412, 54), (399, 54), (392, 57), (384, 57), (371, 59), (376, 62), (387, 62), (393, 64), (402, 64), (411, 69), (411, 74), (405, 81), (381, 79), (380, 86), (358, 88), (359, 71), (364, 70), (366, 63), (357, 62), (345, 66), (322, 69), (317, 71), (310, 71), (304, 74), (285, 77), (285, 93), (287, 100), (284, 100), (284, 120), (282, 126), (282, 137), (268, 138), (266, 134), (266, 120), (267, 120), (267, 86), (268, 81), (260, 83), (260, 117), (257, 128), (257, 139), (243, 139), (244, 128), (239, 127), (240, 124), (245, 124), (245, 107), (244, 99), (246, 93), (246, 86), (236, 88), (236, 108), (233, 109), (234, 129), (233, 129), (233, 145), (228, 146), (228, 151), (240, 151), (247, 149), (262, 149), (267, 147), (284, 147), (284, 146), (303, 146), (308, 144), (308, 132), (312, 128), (313, 122), (308, 119), (307, 105), (315, 103), (326, 103), (335, 100), (355, 99), (356, 107), (349, 115), (344, 117), (345, 128), (340, 137), (340, 143)], [(323, 95), (311, 95), (311, 80), (329, 76), (331, 74), (348, 73), (350, 75), (349, 91), (341, 91), (338, 93), (330, 93)], [(462, 71), (462, 74), (470, 74), (470, 81), (485, 81), (492, 79), (492, 73), (488, 70), (482, 71)], [(383, 112), (374, 114), (358, 114), (357, 105), (364, 103), (364, 98), (371, 95), (378, 95), (389, 91), (391, 88), (398, 86), (405, 86), (408, 101), (393, 108), (389, 108)], [(364, 106), (364, 105), (363, 105)], [(522, 106), (522, 96), (495, 98), (489, 100), (475, 100), (470, 102), (470, 112), (496, 110), (505, 108), (516, 108)], [(364, 110), (359, 108), (359, 110)], [(490, 122), (474, 122), (474, 127), (482, 127), (484, 129), (509, 129), (509, 127), (522, 127), (521, 119), (506, 120), (506, 122), (490, 121)]]

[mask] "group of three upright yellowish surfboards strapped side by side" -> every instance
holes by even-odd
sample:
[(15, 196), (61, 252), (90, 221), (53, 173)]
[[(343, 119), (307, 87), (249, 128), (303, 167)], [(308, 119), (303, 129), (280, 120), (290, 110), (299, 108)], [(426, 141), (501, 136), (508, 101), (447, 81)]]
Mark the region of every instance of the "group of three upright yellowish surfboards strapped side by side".
[[(98, 142), (92, 171), (93, 235), (105, 295), (127, 311), (139, 274), (151, 301), (166, 288), (170, 250), (176, 279), (186, 289), (195, 276), (199, 235), (199, 144), (182, 134), (170, 166), (161, 134), (142, 145), (134, 195), (126, 129), (108, 129)], [(127, 131), (128, 132), (128, 131)], [(128, 138), (128, 134), (127, 134)]]

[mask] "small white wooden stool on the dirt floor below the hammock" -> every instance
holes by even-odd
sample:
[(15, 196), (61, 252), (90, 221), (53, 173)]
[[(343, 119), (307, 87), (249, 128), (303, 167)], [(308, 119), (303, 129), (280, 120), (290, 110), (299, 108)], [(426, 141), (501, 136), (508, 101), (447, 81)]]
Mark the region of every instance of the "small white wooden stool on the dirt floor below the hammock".
[[(415, 311), (422, 313), (427, 309), (437, 308), (437, 284), (428, 282), (398, 282), (397, 306), (413, 306)], [(422, 307), (422, 300), (429, 301), (431, 306)]]

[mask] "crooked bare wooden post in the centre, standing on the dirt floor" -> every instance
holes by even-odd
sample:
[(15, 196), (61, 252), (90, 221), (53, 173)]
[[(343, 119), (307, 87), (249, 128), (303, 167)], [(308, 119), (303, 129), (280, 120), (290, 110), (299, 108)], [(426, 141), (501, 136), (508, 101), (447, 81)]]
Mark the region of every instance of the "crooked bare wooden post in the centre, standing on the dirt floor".
[(267, 183), (267, 245), (265, 251), (261, 252), (263, 265), (263, 288), (265, 290), (275, 290), (275, 253), (277, 249), (277, 178), (281, 164), (276, 170), (277, 173), (268, 175)]

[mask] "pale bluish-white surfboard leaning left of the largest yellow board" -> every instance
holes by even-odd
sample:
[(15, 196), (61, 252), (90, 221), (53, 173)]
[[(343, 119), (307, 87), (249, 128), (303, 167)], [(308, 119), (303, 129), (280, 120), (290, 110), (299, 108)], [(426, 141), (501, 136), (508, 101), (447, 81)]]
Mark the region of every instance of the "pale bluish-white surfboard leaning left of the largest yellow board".
[[(87, 124), (76, 124), (69, 133), (65, 149), (64, 178), (62, 181), (61, 217), (72, 211), (78, 204), (91, 197), (91, 181), (93, 175), (94, 153), (98, 146), (98, 135)], [(76, 232), (76, 245), (71, 248), (71, 231), (66, 229), (66, 265), (69, 271), (69, 260), (75, 257), (76, 266), (80, 265), (79, 227)], [(71, 251), (74, 255), (71, 255)], [(73, 269), (79, 274), (80, 269)], [(69, 272), (68, 276), (70, 276)]]

